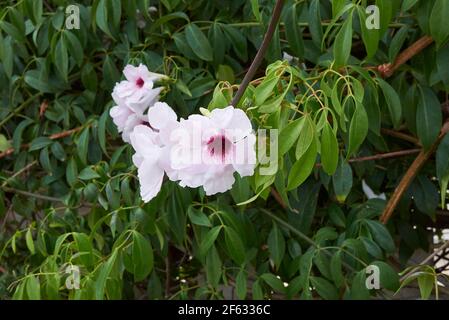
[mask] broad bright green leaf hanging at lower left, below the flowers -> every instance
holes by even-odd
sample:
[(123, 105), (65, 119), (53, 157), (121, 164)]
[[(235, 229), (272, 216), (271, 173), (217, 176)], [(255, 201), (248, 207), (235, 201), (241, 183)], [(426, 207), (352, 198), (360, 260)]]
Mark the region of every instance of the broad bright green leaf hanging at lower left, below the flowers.
[(144, 280), (153, 270), (153, 248), (151, 242), (137, 231), (133, 231), (132, 260), (134, 280)]

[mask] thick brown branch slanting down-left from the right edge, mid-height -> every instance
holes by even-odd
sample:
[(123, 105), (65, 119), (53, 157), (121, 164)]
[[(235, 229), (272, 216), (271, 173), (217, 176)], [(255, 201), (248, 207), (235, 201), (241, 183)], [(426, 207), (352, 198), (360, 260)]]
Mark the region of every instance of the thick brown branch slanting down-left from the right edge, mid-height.
[(379, 220), (382, 223), (387, 223), (388, 220), (393, 215), (394, 210), (396, 209), (399, 200), (401, 200), (402, 195), (404, 192), (408, 189), (409, 185), (412, 183), (413, 179), (415, 178), (418, 171), (422, 168), (424, 163), (429, 159), (429, 157), (432, 155), (432, 153), (435, 151), (435, 149), (440, 144), (441, 140), (445, 136), (445, 134), (449, 131), (449, 122), (446, 122), (441, 129), (441, 133), (438, 136), (438, 139), (433, 143), (433, 145), (428, 149), (424, 150), (422, 149), (421, 152), (418, 154), (416, 159), (413, 161), (412, 165), (408, 168), (405, 175), (402, 177), (401, 181), (399, 182), (399, 185), (396, 187), (396, 189), (393, 192), (393, 195), (391, 196), (390, 200), (387, 203), (387, 206), (385, 207), (384, 212), (380, 216)]

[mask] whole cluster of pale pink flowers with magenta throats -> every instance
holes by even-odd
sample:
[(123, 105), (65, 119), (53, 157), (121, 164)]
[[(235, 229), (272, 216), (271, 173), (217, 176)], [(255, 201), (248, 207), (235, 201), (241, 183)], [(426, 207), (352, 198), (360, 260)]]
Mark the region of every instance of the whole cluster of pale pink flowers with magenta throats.
[(145, 202), (158, 194), (165, 175), (213, 195), (232, 188), (235, 172), (254, 174), (256, 136), (242, 110), (229, 106), (178, 120), (168, 104), (157, 101), (160, 89), (152, 81), (159, 75), (141, 65), (127, 66), (125, 76), (114, 89), (118, 106), (110, 114), (136, 151), (133, 162)]

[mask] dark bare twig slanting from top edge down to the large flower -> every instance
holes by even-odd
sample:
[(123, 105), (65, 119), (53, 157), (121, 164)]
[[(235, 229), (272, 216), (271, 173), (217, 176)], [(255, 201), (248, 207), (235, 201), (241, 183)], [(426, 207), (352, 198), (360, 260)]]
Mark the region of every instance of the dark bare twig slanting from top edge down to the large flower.
[(243, 93), (245, 92), (246, 88), (248, 87), (251, 79), (254, 77), (254, 74), (256, 73), (257, 69), (259, 68), (260, 64), (262, 63), (262, 60), (265, 56), (265, 52), (268, 49), (268, 46), (270, 45), (271, 38), (273, 37), (274, 31), (276, 30), (276, 27), (279, 22), (279, 18), (281, 16), (282, 7), (284, 6), (283, 0), (277, 0), (276, 5), (274, 6), (273, 15), (270, 20), (270, 24), (268, 25), (267, 32), (265, 33), (265, 36), (262, 41), (262, 45), (260, 46), (259, 50), (257, 51), (257, 54), (251, 63), (251, 66), (249, 67), (248, 72), (246, 73), (245, 77), (243, 78), (242, 83), (239, 86), (239, 89), (237, 90), (237, 93), (235, 94), (234, 98), (232, 99), (231, 105), (234, 107), (237, 106), (240, 99), (243, 96)]

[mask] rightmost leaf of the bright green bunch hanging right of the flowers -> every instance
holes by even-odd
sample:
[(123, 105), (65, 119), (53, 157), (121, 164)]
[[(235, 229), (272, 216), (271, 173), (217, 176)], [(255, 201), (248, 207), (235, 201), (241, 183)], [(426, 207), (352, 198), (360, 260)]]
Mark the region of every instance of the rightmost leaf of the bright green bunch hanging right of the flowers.
[(355, 154), (368, 134), (368, 116), (365, 107), (358, 101), (349, 126), (349, 147), (347, 158)]

